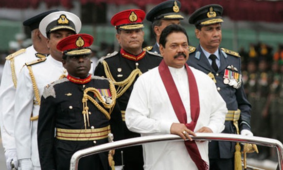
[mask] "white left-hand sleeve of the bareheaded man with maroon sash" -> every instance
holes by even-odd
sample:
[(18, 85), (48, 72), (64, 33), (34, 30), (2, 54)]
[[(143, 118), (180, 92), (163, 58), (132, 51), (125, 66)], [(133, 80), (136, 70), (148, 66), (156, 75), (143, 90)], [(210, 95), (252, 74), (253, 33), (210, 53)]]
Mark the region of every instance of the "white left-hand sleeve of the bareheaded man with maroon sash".
[[(146, 83), (142, 76), (134, 84), (126, 108), (125, 122), (127, 128), (137, 133), (164, 133), (170, 134), (170, 128), (173, 122), (165, 120), (156, 120), (149, 117), (148, 93)], [(151, 113), (154, 114), (154, 113)]]

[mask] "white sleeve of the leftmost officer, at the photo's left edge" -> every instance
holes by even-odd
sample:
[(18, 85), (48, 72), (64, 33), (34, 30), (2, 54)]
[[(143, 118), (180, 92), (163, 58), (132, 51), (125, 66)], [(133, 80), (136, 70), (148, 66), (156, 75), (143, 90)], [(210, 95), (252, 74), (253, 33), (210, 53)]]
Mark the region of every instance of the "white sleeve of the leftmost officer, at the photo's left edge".
[(14, 105), (16, 88), (12, 79), (10, 61), (6, 60), (0, 85), (0, 125), (4, 151), (16, 149), (14, 137)]

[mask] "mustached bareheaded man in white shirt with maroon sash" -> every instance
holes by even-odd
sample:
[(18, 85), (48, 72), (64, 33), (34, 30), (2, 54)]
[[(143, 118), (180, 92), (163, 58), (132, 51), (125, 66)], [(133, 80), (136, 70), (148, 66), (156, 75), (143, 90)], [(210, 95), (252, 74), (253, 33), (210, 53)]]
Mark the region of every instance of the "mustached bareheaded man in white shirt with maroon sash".
[(183, 27), (167, 26), (160, 36), (163, 60), (138, 78), (130, 96), (125, 116), (130, 131), (189, 139), (143, 145), (145, 170), (208, 170), (208, 141), (192, 141), (190, 134), (224, 129), (226, 104), (212, 79), (186, 64), (188, 44)]

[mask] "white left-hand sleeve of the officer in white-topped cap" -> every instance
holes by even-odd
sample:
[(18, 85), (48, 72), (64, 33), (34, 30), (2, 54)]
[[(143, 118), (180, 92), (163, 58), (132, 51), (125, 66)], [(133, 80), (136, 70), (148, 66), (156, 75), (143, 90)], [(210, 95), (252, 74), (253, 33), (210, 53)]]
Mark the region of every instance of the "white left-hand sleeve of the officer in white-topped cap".
[(34, 90), (27, 67), (18, 76), (15, 96), (15, 141), (18, 159), (31, 159), (31, 113), (34, 105)]

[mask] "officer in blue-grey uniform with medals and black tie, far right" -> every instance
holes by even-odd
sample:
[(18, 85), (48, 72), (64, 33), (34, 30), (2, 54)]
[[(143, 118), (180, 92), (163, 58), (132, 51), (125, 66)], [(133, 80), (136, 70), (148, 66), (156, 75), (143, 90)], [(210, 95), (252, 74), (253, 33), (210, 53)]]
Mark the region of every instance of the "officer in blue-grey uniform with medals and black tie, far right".
[[(219, 48), (221, 43), (221, 23), (223, 8), (217, 4), (197, 9), (189, 18), (195, 25), (195, 36), (199, 39), (197, 48), (189, 49), (187, 61), (190, 66), (204, 72), (214, 80), (218, 92), (226, 102), (228, 114), (223, 133), (253, 135), (250, 129), (251, 105), (241, 84), (241, 58), (238, 53)], [(239, 151), (237, 144), (237, 152)], [(211, 170), (234, 169), (235, 143), (212, 141), (209, 144)], [(241, 166), (241, 158), (236, 166)]]

